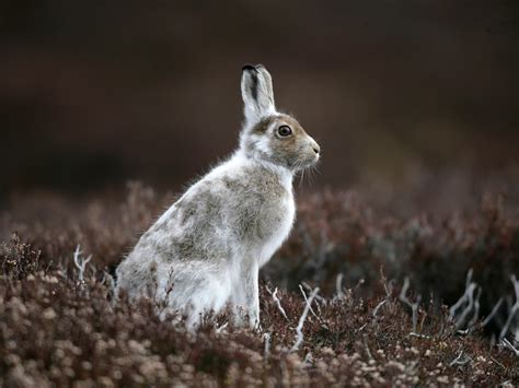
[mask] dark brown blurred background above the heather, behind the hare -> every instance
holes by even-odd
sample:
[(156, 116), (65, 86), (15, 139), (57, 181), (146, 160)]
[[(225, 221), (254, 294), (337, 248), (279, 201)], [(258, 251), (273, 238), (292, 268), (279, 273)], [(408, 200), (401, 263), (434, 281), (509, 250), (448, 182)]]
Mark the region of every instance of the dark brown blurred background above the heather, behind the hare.
[(180, 188), (235, 148), (246, 62), (323, 148), (307, 187), (519, 177), (516, 0), (3, 0), (0, 58), (4, 198)]

